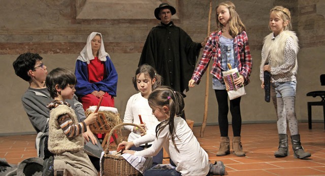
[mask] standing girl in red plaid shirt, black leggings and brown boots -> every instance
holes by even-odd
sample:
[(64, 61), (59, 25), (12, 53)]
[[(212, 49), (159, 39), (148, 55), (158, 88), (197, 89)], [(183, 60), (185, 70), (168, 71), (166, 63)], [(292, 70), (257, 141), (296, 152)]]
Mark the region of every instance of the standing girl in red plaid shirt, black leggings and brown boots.
[[(198, 67), (195, 69), (191, 80), (188, 82), (189, 87), (194, 87), (194, 83), (199, 84), (205, 73), (210, 60), (212, 59), (211, 74), (213, 75), (212, 88), (218, 102), (218, 122), (221, 134), (220, 149), (217, 156), (230, 154), (230, 142), (228, 136), (228, 93), (222, 79), (222, 72), (229, 68), (237, 67), (240, 77), (235, 79), (236, 85), (247, 85), (248, 77), (251, 73), (252, 58), (248, 46), (248, 38), (245, 32), (245, 25), (242, 23), (239, 15), (235, 10), (232, 2), (222, 2), (216, 8), (217, 31), (212, 32)], [(241, 133), (241, 114), (240, 114), (241, 97), (230, 100), (230, 112), (232, 114), (233, 127), (233, 152), (236, 156), (245, 156), (240, 141)]]

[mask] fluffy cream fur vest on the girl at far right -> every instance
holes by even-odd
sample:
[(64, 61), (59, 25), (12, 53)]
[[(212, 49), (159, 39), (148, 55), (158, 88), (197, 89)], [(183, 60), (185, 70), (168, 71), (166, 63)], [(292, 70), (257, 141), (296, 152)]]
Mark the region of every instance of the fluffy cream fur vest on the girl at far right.
[[(284, 63), (284, 48), (287, 39), (291, 37), (294, 40), (295, 45), (295, 51), (298, 53), (299, 51), (299, 40), (296, 36), (296, 33), (294, 31), (285, 30), (282, 31), (277, 38), (274, 39), (273, 33), (270, 33), (268, 36), (264, 38), (264, 45), (262, 51), (264, 52), (264, 55), (262, 54), (262, 62), (261, 62), (261, 69), (263, 69), (263, 66), (266, 62), (269, 62), (271, 67), (280, 66)], [(296, 65), (291, 70), (291, 73), (296, 74), (298, 71), (298, 62), (296, 57)]]

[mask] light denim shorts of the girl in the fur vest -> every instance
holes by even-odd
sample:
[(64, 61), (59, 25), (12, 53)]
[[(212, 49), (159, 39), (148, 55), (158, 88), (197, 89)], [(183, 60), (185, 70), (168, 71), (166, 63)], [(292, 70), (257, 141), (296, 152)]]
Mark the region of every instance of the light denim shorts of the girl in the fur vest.
[(271, 97), (296, 96), (297, 81), (271, 83)]

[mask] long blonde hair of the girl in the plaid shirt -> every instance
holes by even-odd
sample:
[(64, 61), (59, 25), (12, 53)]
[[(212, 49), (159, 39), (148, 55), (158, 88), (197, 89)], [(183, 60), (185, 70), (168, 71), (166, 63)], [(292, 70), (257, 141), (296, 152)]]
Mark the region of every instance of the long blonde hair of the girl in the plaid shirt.
[(238, 13), (236, 12), (236, 7), (234, 3), (230, 1), (219, 3), (218, 6), (215, 8), (215, 14), (216, 14), (216, 21), (217, 21), (217, 31), (221, 30), (222, 27), (224, 27), (218, 20), (218, 12), (217, 9), (219, 6), (225, 6), (229, 9), (230, 18), (229, 18), (229, 34), (233, 38), (235, 38), (238, 34), (246, 30), (246, 27), (242, 20), (240, 19)]

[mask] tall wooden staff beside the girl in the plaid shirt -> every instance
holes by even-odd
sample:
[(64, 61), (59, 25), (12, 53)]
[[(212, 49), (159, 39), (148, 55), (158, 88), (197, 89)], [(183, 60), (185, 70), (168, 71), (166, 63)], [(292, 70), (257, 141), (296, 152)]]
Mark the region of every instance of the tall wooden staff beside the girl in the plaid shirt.
[[(209, 21), (208, 21), (208, 37), (210, 36), (210, 25), (211, 25), (211, 13), (212, 13), (212, 0), (210, 0), (210, 10), (209, 10)], [(204, 136), (205, 126), (207, 124), (207, 116), (208, 116), (208, 100), (209, 100), (209, 66), (206, 71), (207, 81), (205, 83), (205, 96), (204, 96), (204, 115), (203, 122), (201, 126), (200, 137)]]

